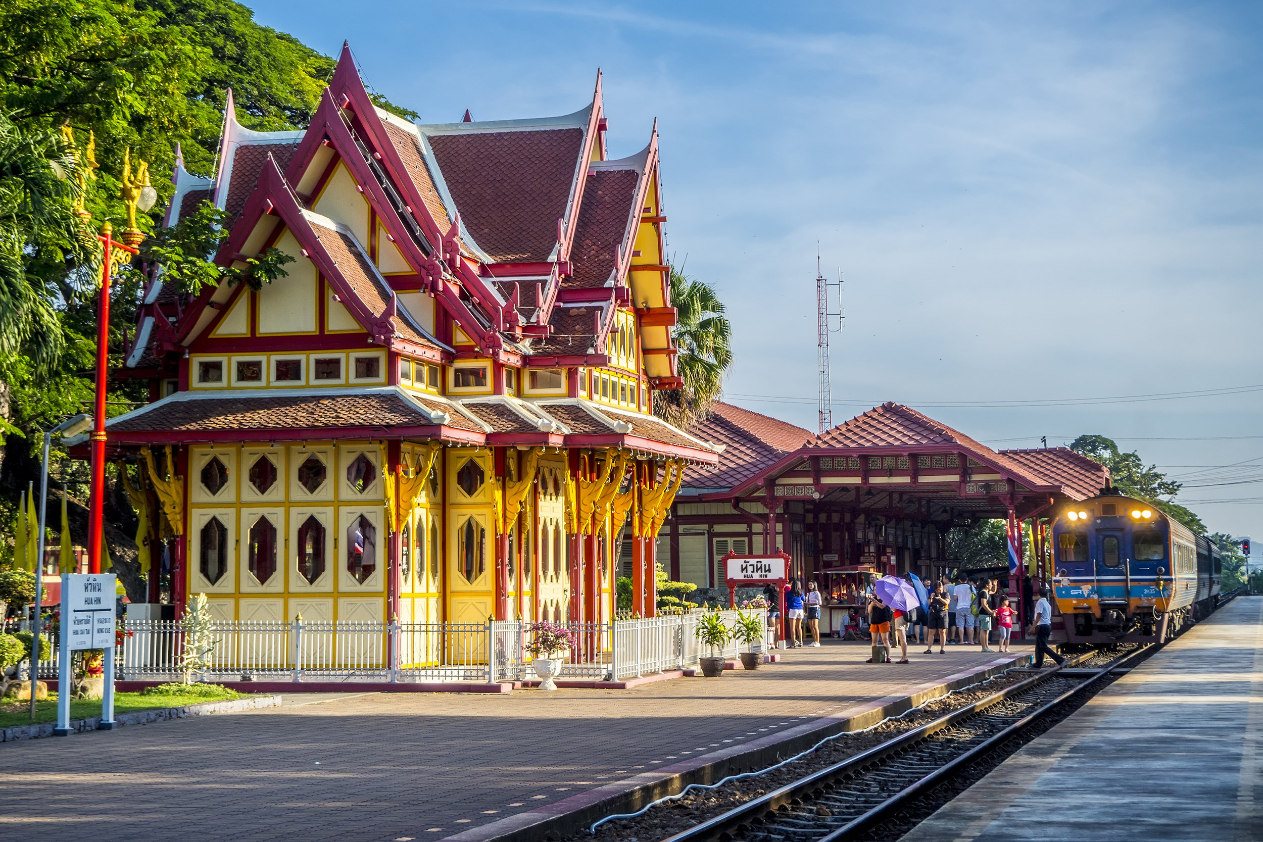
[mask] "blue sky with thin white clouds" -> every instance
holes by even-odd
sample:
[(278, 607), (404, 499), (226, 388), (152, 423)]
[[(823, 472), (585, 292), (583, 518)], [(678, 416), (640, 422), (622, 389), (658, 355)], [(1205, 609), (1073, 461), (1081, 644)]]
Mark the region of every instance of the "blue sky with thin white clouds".
[(1263, 6), (248, 5), (350, 40), (424, 122), (568, 114), (601, 68), (611, 157), (658, 120), (731, 403), (817, 428), (818, 244), (835, 423), (895, 400), (995, 448), (1100, 433), (1263, 540)]

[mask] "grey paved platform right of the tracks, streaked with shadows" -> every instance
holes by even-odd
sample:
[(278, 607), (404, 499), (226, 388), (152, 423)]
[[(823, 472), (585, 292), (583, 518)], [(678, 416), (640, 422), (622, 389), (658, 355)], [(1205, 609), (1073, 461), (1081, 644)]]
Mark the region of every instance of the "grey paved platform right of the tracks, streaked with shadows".
[(1263, 597), (1238, 597), (903, 842), (1263, 839)]

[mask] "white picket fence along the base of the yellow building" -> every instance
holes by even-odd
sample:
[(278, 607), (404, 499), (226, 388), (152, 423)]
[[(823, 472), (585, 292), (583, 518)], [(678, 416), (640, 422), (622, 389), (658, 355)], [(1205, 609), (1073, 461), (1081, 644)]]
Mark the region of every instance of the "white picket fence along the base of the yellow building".
[[(764, 627), (765, 611), (758, 611)], [(731, 626), (735, 611), (721, 612)], [(698, 614), (563, 624), (578, 645), (566, 654), (563, 679), (621, 680), (682, 669), (709, 655), (695, 634)], [(115, 650), (121, 680), (179, 680), (181, 624), (130, 620)], [(514, 682), (536, 680), (530, 624), (493, 622), (215, 622), (213, 646), (198, 677), (208, 682)], [(47, 644), (45, 644), (47, 645)], [(765, 651), (768, 639), (755, 644)], [(735, 658), (738, 645), (721, 654)], [(56, 646), (39, 674), (57, 677)]]

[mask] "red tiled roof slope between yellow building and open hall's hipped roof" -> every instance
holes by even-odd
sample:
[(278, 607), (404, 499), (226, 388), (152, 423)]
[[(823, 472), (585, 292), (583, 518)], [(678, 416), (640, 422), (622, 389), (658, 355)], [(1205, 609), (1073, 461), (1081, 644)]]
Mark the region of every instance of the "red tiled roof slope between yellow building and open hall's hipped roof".
[(725, 446), (717, 470), (688, 468), (685, 486), (698, 489), (735, 487), (786, 453), (797, 451), (813, 436), (802, 427), (725, 403), (712, 404), (710, 414), (688, 432), (705, 442)]

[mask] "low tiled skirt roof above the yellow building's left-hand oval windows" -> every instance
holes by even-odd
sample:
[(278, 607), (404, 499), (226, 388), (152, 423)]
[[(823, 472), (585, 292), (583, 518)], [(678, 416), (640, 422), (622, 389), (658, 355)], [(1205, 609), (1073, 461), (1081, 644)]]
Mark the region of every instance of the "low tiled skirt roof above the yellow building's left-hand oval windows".
[[(181, 393), (189, 395), (189, 393)], [(143, 412), (109, 422), (121, 433), (330, 429), (338, 427), (429, 427), (433, 422), (394, 393), (168, 398)]]

